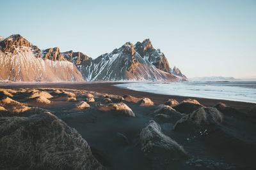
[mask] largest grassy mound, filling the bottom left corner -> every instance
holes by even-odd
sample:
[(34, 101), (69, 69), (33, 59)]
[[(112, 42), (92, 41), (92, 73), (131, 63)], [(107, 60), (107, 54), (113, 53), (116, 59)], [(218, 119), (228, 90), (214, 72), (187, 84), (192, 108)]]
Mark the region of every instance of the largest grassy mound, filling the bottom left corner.
[(0, 118), (0, 167), (104, 169), (75, 129), (39, 109)]

